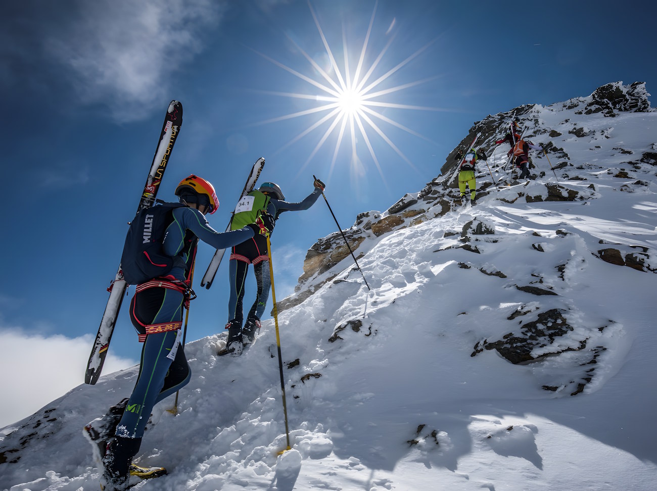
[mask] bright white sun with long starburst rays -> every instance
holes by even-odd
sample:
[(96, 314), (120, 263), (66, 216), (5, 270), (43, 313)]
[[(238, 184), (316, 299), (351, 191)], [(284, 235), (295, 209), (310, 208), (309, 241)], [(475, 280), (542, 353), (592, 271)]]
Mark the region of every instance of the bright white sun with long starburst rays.
[[(397, 121), (394, 121), (392, 117), (388, 114), (384, 114), (383, 109), (405, 109), (405, 110), (428, 110), (428, 111), (445, 111), (442, 108), (431, 108), (426, 106), (409, 106), (407, 104), (399, 104), (394, 102), (394, 95), (403, 91), (404, 89), (409, 89), (426, 83), (427, 81), (438, 78), (438, 76), (428, 77), (422, 80), (415, 80), (402, 85), (396, 85), (394, 87), (385, 87), (384, 81), (388, 80), (392, 75), (396, 74), (404, 66), (406, 66), (411, 60), (419, 56), (425, 49), (427, 49), (436, 39), (433, 39), (417, 51), (407, 56), (404, 60), (397, 63), (392, 68), (386, 70), (385, 62), (387, 61), (386, 52), (394, 40), (394, 35), (388, 37), (388, 41), (380, 51), (378, 56), (374, 58), (374, 61), (369, 65), (365, 66), (365, 54), (367, 53), (370, 37), (372, 33), (372, 28), (374, 24), (374, 17), (376, 14), (376, 4), (374, 5), (374, 10), (365, 33), (365, 41), (361, 47), (360, 55), (357, 57), (357, 62), (355, 63), (355, 70), (353, 70), (353, 63), (350, 62), (350, 49), (348, 49), (348, 43), (346, 41), (346, 35), (342, 33), (342, 51), (343, 51), (343, 63), (342, 66), (338, 64), (336, 58), (333, 54), (331, 47), (328, 45), (327, 38), (317, 20), (317, 15), (313, 11), (312, 5), (308, 2), (308, 7), (310, 12), (315, 20), (315, 26), (317, 26), (317, 31), (322, 39), (328, 60), (330, 61), (330, 68), (319, 66), (319, 64), (313, 59), (306, 51), (300, 47), (294, 39), (288, 36), (289, 41), (294, 44), (299, 53), (301, 53), (309, 62), (312, 68), (313, 76), (305, 75), (289, 66), (274, 60), (273, 58), (267, 56), (266, 54), (256, 52), (263, 56), (263, 58), (269, 60), (273, 64), (283, 68), (292, 75), (295, 75), (302, 81), (307, 82), (311, 86), (309, 93), (286, 93), (286, 92), (273, 92), (273, 91), (263, 91), (263, 93), (275, 96), (284, 96), (297, 99), (306, 99), (313, 101), (316, 105), (310, 107), (306, 110), (301, 110), (294, 112), (292, 114), (287, 114), (285, 116), (275, 117), (273, 119), (268, 119), (267, 121), (260, 121), (258, 124), (267, 124), (275, 123), (278, 121), (283, 121), (284, 119), (292, 119), (296, 117), (306, 117), (314, 115), (314, 122), (309, 124), (303, 131), (298, 135), (293, 137), (291, 140), (286, 142), (282, 148), (278, 150), (281, 152), (284, 148), (298, 142), (303, 139), (310, 133), (315, 132), (317, 129), (326, 128), (323, 135), (319, 138), (319, 141), (315, 145), (313, 151), (309, 154), (306, 162), (300, 167), (298, 174), (300, 175), (306, 166), (310, 163), (311, 160), (315, 157), (317, 152), (322, 148), (322, 146), (327, 142), (331, 135), (335, 135), (335, 146), (332, 152), (332, 159), (330, 162), (329, 177), (334, 169), (336, 159), (338, 158), (338, 150), (342, 146), (343, 140), (351, 139), (351, 165), (359, 165), (362, 163), (363, 159), (359, 156), (359, 152), (363, 152), (363, 147), (367, 148), (367, 153), (371, 156), (374, 165), (378, 169), (382, 181), (386, 181), (384, 173), (382, 172), (381, 165), (374, 151), (373, 138), (377, 137), (380, 140), (383, 140), (397, 155), (399, 155), (406, 163), (408, 163), (413, 169), (417, 170), (415, 165), (403, 154), (397, 145), (392, 141), (391, 137), (386, 134), (384, 127), (390, 129), (394, 127), (396, 129), (401, 129), (406, 133), (419, 137), (428, 142), (434, 143), (432, 140), (420, 135), (419, 133), (413, 131), (401, 125)], [(395, 25), (395, 21), (388, 28), (388, 32), (392, 30), (392, 27)], [(384, 59), (386, 58), (386, 59)], [(353, 70), (353, 73), (352, 73)], [(386, 70), (382, 75), (374, 75), (377, 72), (382, 72)], [(376, 78), (375, 78), (376, 77)], [(385, 88), (384, 88), (385, 87)], [(386, 126), (387, 125), (387, 126)], [(321, 130), (320, 130), (321, 131)]]

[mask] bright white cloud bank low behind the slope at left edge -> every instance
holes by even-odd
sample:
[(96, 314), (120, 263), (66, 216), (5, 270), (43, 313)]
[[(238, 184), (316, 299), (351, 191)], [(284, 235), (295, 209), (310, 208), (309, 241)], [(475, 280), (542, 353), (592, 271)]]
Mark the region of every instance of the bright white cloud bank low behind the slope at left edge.
[[(20, 329), (0, 330), (0, 428), (28, 417), (84, 383), (91, 335), (70, 339), (44, 337)], [(108, 354), (103, 372), (124, 370), (138, 362)]]

